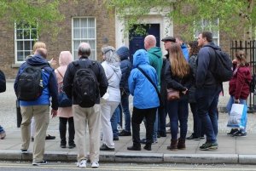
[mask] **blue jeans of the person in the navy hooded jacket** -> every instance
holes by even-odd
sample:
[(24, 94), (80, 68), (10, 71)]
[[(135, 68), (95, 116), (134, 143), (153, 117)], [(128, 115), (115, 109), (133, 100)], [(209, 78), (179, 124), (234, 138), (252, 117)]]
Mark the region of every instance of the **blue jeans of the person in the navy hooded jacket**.
[(125, 131), (131, 132), (131, 113), (129, 110), (129, 92), (126, 92), (125, 98), (121, 100), (122, 110), (125, 116)]

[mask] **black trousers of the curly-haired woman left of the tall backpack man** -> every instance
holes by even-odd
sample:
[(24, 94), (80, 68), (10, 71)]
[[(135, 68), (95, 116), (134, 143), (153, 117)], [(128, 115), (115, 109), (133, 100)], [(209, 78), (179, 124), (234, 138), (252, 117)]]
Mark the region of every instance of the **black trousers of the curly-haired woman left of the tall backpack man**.
[(204, 133), (203, 133), (203, 128), (201, 126), (201, 119), (198, 117), (198, 114), (197, 114), (196, 103), (189, 103), (189, 105), (193, 114), (193, 121), (194, 121), (193, 134), (196, 137), (201, 137), (201, 135), (203, 135)]

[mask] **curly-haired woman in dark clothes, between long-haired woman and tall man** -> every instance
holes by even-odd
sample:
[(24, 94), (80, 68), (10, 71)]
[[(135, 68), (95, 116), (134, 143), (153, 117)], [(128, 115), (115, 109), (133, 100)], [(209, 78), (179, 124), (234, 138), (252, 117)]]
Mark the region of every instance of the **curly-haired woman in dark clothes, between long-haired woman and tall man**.
[[(200, 50), (200, 47), (198, 46), (197, 41), (189, 42), (188, 44), (189, 66), (192, 69), (193, 80), (195, 80), (195, 71), (196, 71), (195, 61), (197, 60), (197, 54), (199, 53), (199, 50)], [(197, 114), (197, 107), (196, 107), (196, 101), (195, 101), (195, 84), (193, 84), (189, 88), (189, 105), (190, 105), (190, 110), (193, 113), (194, 127), (193, 127), (193, 133), (189, 137), (187, 137), (186, 140), (204, 139), (204, 135), (202, 133), (202, 128), (201, 128), (201, 119), (198, 117), (198, 114)]]

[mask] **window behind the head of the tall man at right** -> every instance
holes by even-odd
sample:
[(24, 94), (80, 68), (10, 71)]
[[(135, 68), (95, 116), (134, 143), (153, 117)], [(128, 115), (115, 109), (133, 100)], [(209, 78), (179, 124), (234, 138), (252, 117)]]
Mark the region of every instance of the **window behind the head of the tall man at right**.
[(214, 26), (218, 26), (218, 19), (215, 20), (201, 20), (201, 28), (199, 28), (197, 31), (195, 31), (195, 39), (197, 40), (197, 37), (201, 31), (211, 31), (212, 37), (213, 37), (213, 43), (218, 45), (218, 31), (214, 28)]

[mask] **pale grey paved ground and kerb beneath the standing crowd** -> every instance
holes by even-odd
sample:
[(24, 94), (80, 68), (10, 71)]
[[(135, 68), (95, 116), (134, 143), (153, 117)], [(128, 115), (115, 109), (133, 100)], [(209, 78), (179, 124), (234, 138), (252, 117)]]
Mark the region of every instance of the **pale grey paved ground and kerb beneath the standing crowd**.
[[(218, 107), (226, 105), (229, 98), (227, 86), (224, 86), (225, 95), (219, 97)], [(7, 83), (7, 91), (0, 94), (0, 124), (7, 136), (0, 140), (0, 160), (26, 160), (32, 161), (32, 146), (29, 154), (20, 154), (20, 128), (16, 128), (15, 92), (13, 82)], [(132, 108), (132, 100), (130, 100)], [(168, 117), (167, 117), (168, 118)], [(226, 128), (227, 113), (219, 113), (218, 118), (218, 150), (200, 151), (199, 146), (205, 140), (186, 140), (186, 150), (168, 151), (171, 135), (161, 137), (158, 143), (152, 145), (152, 151), (127, 151), (127, 146), (132, 145), (131, 136), (119, 137), (114, 141), (115, 151), (100, 151), (100, 162), (168, 162), (168, 163), (249, 163), (256, 164), (256, 115), (248, 114), (247, 138), (233, 138), (227, 136), (230, 130)], [(168, 122), (168, 121), (167, 121)], [(189, 112), (188, 136), (193, 130), (193, 118)], [(76, 161), (77, 147), (61, 149), (59, 135), (59, 118), (50, 119), (47, 134), (56, 136), (55, 140), (46, 140), (44, 158), (49, 161)], [(145, 135), (145, 128), (141, 125), (141, 139)], [(87, 134), (88, 136), (88, 134)], [(89, 140), (89, 139), (87, 139)], [(88, 151), (89, 151), (89, 142)]]

